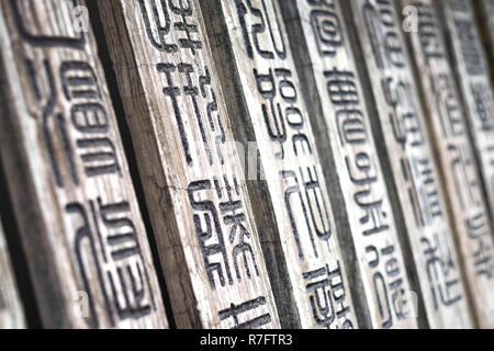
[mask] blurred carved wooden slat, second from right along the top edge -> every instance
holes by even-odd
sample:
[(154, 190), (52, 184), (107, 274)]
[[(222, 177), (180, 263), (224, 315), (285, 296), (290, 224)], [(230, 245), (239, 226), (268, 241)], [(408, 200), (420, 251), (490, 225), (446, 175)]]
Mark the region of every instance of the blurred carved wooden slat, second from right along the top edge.
[(440, 3), (457, 81), (494, 217), (494, 92), (485, 50), (471, 1)]

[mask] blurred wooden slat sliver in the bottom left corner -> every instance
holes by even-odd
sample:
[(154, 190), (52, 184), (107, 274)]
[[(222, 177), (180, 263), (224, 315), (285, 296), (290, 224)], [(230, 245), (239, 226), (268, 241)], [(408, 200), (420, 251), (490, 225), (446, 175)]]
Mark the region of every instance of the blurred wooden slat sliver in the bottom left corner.
[(0, 225), (0, 330), (25, 327), (24, 310), (15, 285), (9, 248)]

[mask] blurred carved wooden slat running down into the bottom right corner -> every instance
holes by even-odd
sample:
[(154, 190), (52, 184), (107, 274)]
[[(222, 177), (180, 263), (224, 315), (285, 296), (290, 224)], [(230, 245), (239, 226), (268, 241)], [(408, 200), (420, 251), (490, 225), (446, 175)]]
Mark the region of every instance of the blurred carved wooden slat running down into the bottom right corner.
[(456, 226), (457, 247), (478, 324), (492, 328), (493, 230), (438, 12), (431, 0), (402, 0), (400, 3), (402, 8), (413, 5), (417, 10), (418, 31), (406, 35), (414, 53), (415, 77), (420, 82), (427, 126), (449, 194), (447, 201)]

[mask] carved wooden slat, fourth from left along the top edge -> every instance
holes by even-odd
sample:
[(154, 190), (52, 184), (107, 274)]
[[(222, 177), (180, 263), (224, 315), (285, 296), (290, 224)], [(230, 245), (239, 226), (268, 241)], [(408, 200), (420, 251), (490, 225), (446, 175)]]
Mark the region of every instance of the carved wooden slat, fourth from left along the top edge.
[(324, 172), (339, 181), (330, 188), (340, 188), (338, 205), (348, 212), (358, 259), (349, 269), (363, 282), (356, 295), (366, 301), (373, 328), (415, 328), (416, 306), (407, 301), (412, 287), (340, 3), (279, 3)]

